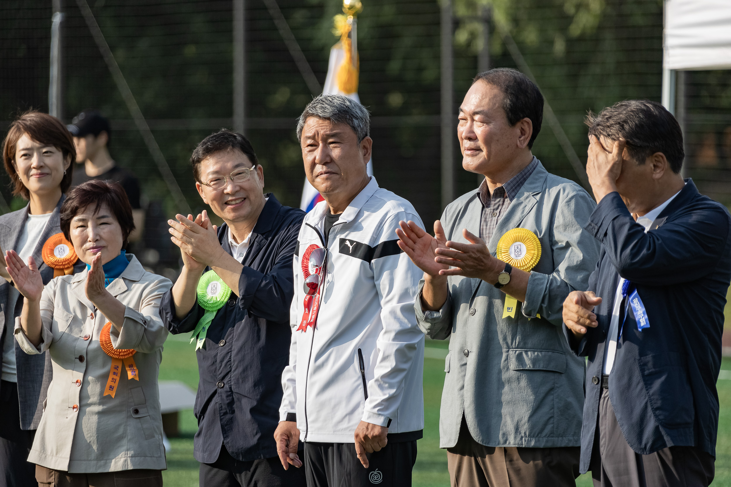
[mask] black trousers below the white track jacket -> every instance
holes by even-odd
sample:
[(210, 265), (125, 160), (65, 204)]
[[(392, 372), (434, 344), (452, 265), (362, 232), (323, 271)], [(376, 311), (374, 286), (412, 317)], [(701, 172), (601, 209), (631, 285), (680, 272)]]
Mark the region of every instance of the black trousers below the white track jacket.
[(412, 485), (416, 440), (388, 443), (367, 453), (366, 469), (355, 443), (305, 443), (307, 487), (406, 487)]

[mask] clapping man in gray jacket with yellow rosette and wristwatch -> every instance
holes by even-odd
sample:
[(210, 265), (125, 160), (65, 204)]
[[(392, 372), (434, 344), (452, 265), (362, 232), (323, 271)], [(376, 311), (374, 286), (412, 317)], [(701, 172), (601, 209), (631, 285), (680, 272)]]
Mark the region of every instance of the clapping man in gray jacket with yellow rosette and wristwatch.
[(424, 271), (419, 326), (450, 339), (439, 434), (452, 486), (574, 486), (578, 475), (583, 361), (561, 310), (598, 260), (582, 229), (596, 205), (531, 153), (542, 115), (525, 75), (478, 74), (457, 133), (463, 167), (485, 180), (447, 206), (435, 237), (412, 222), (397, 231)]

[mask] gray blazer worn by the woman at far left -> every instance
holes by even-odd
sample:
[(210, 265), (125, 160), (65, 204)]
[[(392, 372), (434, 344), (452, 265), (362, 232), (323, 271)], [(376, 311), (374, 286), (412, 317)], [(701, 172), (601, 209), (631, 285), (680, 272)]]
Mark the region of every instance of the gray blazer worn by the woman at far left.
[[(43, 284), (53, 279), (53, 268), (47, 266), (41, 257), (41, 249), (43, 244), (51, 235), (58, 234), (61, 231), (61, 204), (63, 204), (66, 196), (61, 196), (56, 204), (56, 210), (53, 210), (50, 220), (46, 224), (46, 228), (38, 240), (33, 251), (33, 258), (36, 264), (39, 264), (38, 270), (43, 278)], [(29, 206), (26, 205), (22, 210), (0, 215), (0, 247), (3, 253), (6, 250), (19, 250), (17, 248), (18, 239), (23, 232), (23, 226), (28, 219)], [(4, 259), (3, 264), (4, 265)], [(74, 273), (86, 269), (86, 264), (77, 261), (74, 265)], [(11, 301), (10, 283), (0, 278), (0, 364), (2, 363), (2, 345), (5, 334), (12, 334), (5, 331), (5, 315), (10, 314), (12, 318), (20, 316), (20, 310), (23, 309), (23, 296), (19, 296), (17, 300)], [(51, 367), (50, 357), (48, 353), (41, 355), (26, 355), (20, 350), (20, 345), (15, 342), (15, 365), (18, 372), (18, 399), (20, 401), (20, 428), (37, 429), (43, 414), (43, 401), (46, 398), (48, 384), (53, 378), (53, 368)]]

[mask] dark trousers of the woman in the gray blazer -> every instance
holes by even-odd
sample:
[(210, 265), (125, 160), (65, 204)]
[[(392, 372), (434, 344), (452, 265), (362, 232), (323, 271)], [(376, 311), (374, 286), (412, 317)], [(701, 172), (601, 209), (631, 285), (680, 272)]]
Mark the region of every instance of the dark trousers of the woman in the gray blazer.
[(36, 466), (29, 463), (35, 430), (20, 429), (18, 384), (0, 382), (0, 487), (32, 487)]

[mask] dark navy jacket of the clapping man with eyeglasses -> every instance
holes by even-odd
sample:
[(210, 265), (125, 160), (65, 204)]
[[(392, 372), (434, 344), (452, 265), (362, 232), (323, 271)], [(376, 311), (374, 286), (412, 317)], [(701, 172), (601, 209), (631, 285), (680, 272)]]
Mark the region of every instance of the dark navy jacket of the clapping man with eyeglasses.
[[(292, 259), (305, 212), (267, 196), (243, 258), (239, 296), (232, 293), (216, 313), (204, 348), (197, 351), (194, 456), (203, 463), (218, 459), (221, 444), (240, 461), (277, 455), (281, 372), (292, 337)], [(218, 236), (230, 253), (227, 230), (221, 225)], [(173, 334), (193, 331), (204, 312), (196, 303), (185, 318), (175, 318), (172, 290), (160, 304), (160, 317)]]

